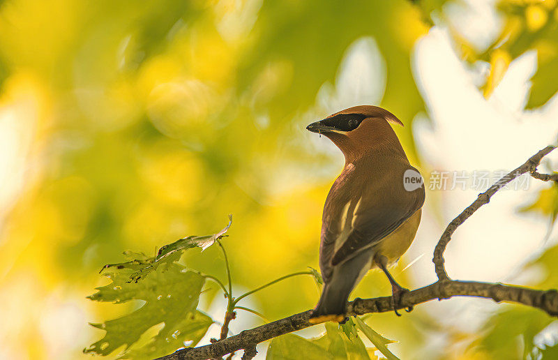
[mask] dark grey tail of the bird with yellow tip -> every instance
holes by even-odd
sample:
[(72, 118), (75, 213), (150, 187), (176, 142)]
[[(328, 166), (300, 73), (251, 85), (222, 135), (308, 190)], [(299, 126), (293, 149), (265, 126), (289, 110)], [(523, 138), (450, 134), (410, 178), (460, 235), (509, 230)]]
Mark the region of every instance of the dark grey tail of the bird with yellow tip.
[(319, 298), (312, 315), (310, 315), (310, 322), (312, 324), (326, 321), (342, 322), (345, 319), (343, 314), (351, 290), (352, 286), (340, 282), (324, 284), (322, 296)]

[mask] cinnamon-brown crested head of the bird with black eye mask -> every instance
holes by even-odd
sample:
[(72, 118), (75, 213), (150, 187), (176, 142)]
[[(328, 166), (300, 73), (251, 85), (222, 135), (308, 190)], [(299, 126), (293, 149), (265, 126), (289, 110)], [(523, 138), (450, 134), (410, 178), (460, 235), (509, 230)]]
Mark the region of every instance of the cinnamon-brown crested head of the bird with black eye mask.
[(382, 107), (360, 105), (310, 123), (306, 130), (329, 137), (345, 154), (347, 162), (379, 148), (402, 152), (405, 156), (388, 122), (403, 126), (395, 115)]

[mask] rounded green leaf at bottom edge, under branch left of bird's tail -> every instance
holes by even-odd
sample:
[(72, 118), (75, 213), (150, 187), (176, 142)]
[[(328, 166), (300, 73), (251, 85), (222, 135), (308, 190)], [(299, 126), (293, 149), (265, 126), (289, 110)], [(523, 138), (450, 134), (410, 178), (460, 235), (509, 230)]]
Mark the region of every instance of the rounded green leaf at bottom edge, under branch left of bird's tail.
[(273, 338), (266, 360), (334, 359), (333, 355), (310, 340), (292, 333)]

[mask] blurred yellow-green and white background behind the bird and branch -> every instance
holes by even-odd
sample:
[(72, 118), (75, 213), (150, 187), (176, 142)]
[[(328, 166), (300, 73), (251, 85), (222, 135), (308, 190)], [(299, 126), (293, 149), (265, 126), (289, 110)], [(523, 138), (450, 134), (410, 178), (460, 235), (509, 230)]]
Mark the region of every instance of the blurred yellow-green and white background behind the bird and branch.
[[(397, 115), (427, 189), (433, 171), (513, 169), (557, 140), (557, 69), (555, 0), (0, 1), (0, 359), (89, 358), (103, 331), (87, 323), (130, 308), (85, 298), (100, 267), (229, 213), (235, 291), (317, 267), (343, 159), (305, 127), (345, 107)], [(394, 268), (407, 287), (435, 280), (437, 238), (476, 198), (454, 179), (427, 190)], [(558, 287), (557, 211), (548, 183), (498, 193), (455, 234), (450, 276)], [(224, 278), (218, 248), (184, 261)], [(220, 319), (207, 287), (200, 308)], [(370, 273), (354, 296), (389, 292)], [(274, 320), (318, 295), (297, 277), (244, 304)], [(520, 306), (451, 299), (367, 323), (402, 359), (557, 359), (558, 323)], [(239, 313), (232, 331), (258, 324)]]

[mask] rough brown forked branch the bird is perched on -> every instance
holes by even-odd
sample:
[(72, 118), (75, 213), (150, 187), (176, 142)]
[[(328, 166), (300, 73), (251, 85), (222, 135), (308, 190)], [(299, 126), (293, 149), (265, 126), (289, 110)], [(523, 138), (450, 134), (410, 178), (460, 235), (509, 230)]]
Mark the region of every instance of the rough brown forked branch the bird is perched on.
[[(539, 174), (536, 167), (541, 159), (548, 155), (554, 146), (548, 146), (531, 156), (523, 165), (506, 174), (505, 177), (499, 179), (497, 183), (491, 186), (484, 193), (478, 195), (478, 198), (467, 209), (462, 211), (458, 217), (449, 223), (448, 227), (439, 239), (432, 261), (435, 264), (435, 271), (438, 277), (436, 283), (419, 289), (407, 292), (402, 295), (399, 308), (408, 308), (416, 306), (419, 303), (425, 303), (431, 300), (449, 299), (451, 297), (480, 297), (484, 299), (492, 299), (499, 302), (521, 303), (526, 306), (538, 308), (550, 316), (558, 317), (558, 291), (557, 290), (534, 290), (528, 287), (504, 285), (501, 283), (481, 283), (476, 281), (451, 280), (446, 273), (444, 267), (444, 250), (451, 240), (451, 235), (457, 228), (465, 223), (465, 220), (481, 208), (484, 204), (490, 202), (490, 197), (497, 193), (507, 183), (519, 177), (521, 174), (529, 172), (532, 177), (543, 181), (557, 181), (557, 174)], [(346, 315), (363, 315), (366, 313), (383, 313), (392, 311), (393, 305), (391, 297), (377, 297), (374, 299), (356, 299), (347, 304)], [(265, 340), (305, 329), (312, 326), (308, 319), (312, 310), (306, 310), (285, 317), (269, 324), (264, 324), (254, 329), (244, 330), (238, 335), (222, 339), (216, 343), (199, 347), (188, 347), (178, 350), (174, 354), (160, 357), (157, 360), (183, 360), (183, 359), (213, 359), (220, 358), (226, 354), (244, 350), (243, 359), (252, 359), (257, 353), (256, 345)]]

